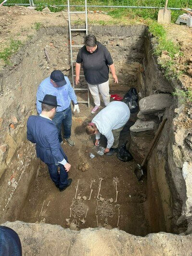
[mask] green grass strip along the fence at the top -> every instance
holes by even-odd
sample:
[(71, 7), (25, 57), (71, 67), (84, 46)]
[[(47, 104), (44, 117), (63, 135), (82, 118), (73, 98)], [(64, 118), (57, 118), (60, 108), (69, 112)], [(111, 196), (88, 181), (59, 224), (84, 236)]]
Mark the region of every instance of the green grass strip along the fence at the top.
[[(29, 3), (28, 0), (9, 0), (10, 3)], [(49, 6), (51, 12), (59, 12), (66, 7), (53, 8), (51, 5), (67, 5), (67, 0), (34, 0), (34, 4), (39, 5), (38, 10), (42, 10), (44, 7)], [(70, 0), (71, 5), (84, 5), (84, 0)], [(154, 7), (164, 7), (165, 0), (87, 0), (88, 5), (118, 5), (118, 6), (154, 6)], [(169, 0), (168, 7), (175, 8), (190, 8), (192, 6), (191, 0)], [(82, 8), (76, 8), (77, 10), (82, 10)], [(129, 17), (143, 18), (143, 19), (153, 19), (157, 20), (158, 9), (129, 9), (129, 8), (90, 8), (89, 10), (98, 10), (108, 12), (109, 15), (115, 18)], [(181, 11), (171, 11), (172, 22), (175, 22), (177, 17), (181, 14)]]

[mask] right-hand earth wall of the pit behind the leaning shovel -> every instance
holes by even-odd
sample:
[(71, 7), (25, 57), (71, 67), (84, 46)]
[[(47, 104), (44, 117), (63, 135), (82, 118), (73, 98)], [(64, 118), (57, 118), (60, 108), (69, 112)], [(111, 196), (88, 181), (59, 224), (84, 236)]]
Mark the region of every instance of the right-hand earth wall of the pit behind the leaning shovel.
[[(142, 97), (162, 92), (172, 93), (181, 85), (176, 80), (167, 81), (164, 78), (164, 71), (153, 56), (153, 47), (152, 38), (146, 35), (146, 55), (143, 62), (145, 72), (141, 74), (140, 79)], [(192, 132), (192, 122), (189, 108), (180, 106), (178, 109), (178, 106), (179, 102), (175, 98), (173, 104), (163, 114), (156, 113), (159, 119), (162, 115), (164, 118), (167, 117), (167, 122), (150, 154), (147, 165), (147, 203), (152, 232), (166, 230), (181, 233), (187, 229), (187, 219), (188, 225), (191, 222), (190, 214), (184, 207), (186, 197), (183, 194), (186, 195), (187, 189), (182, 168), (185, 162), (190, 164), (192, 159), (192, 151), (186, 143), (187, 136)], [(185, 114), (187, 112), (188, 115)], [(155, 116), (144, 116), (145, 120), (149, 118), (159, 123)], [(144, 133), (141, 137), (147, 138), (148, 133)], [(134, 135), (132, 138), (133, 141), (136, 140)], [(143, 142), (142, 147), (149, 147), (149, 145), (148, 140)], [(140, 158), (143, 158), (143, 152), (139, 151), (139, 154)]]

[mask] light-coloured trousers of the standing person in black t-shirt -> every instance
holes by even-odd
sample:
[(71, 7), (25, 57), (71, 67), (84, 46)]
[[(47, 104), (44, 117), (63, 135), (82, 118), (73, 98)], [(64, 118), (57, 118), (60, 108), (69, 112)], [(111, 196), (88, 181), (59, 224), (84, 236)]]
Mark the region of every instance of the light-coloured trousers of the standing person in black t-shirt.
[(90, 89), (90, 93), (93, 97), (93, 101), (95, 103), (95, 106), (100, 106), (100, 97), (99, 93), (102, 95), (103, 102), (105, 106), (107, 106), (110, 102), (110, 96), (109, 96), (109, 80), (102, 84), (89, 84), (88, 87)]

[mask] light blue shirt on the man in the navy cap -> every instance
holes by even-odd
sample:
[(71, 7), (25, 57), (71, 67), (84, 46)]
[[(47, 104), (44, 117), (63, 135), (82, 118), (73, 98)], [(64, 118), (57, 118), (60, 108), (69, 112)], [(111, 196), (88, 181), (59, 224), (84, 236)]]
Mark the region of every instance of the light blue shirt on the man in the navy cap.
[(61, 107), (57, 107), (57, 112), (63, 111), (69, 107), (71, 100), (74, 104), (77, 104), (77, 96), (75, 94), (74, 89), (71, 87), (71, 83), (68, 77), (64, 77), (66, 80), (66, 84), (61, 87), (54, 87), (51, 83), (50, 77), (45, 78), (38, 87), (37, 92), (37, 110), (38, 114), (41, 113), (41, 102), (46, 94), (51, 94), (57, 97), (57, 104), (61, 105)]

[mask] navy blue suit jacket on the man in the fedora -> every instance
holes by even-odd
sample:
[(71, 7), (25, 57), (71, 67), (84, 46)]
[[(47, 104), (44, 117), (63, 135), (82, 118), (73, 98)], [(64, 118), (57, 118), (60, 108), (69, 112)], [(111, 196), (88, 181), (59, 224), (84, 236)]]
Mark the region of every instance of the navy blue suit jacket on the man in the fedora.
[(58, 130), (52, 120), (31, 115), (27, 120), (27, 140), (36, 143), (37, 157), (47, 164), (57, 164), (67, 157), (59, 143)]

